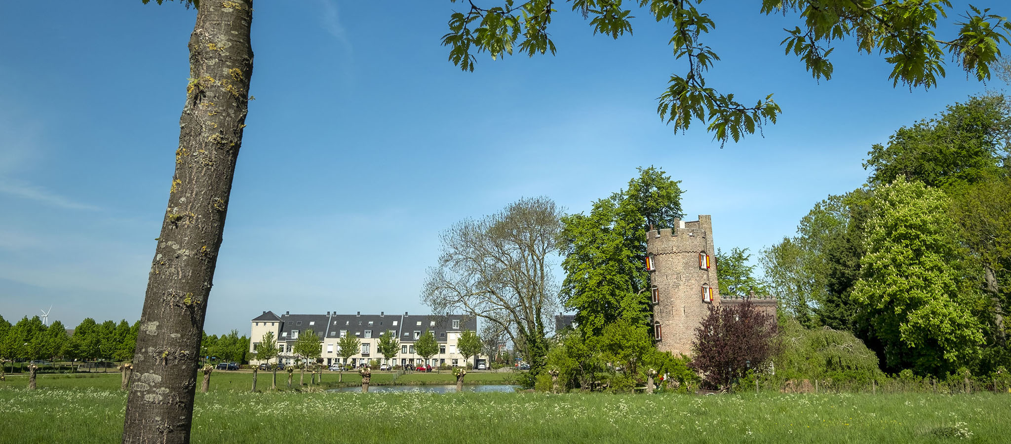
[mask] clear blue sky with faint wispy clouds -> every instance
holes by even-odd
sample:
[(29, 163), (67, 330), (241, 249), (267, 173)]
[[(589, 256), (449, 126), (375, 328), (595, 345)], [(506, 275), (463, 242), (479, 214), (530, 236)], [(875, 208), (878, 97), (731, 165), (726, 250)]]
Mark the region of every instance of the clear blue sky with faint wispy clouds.
[[(704, 3), (723, 59), (708, 81), (784, 113), (722, 149), (674, 134), (656, 97), (680, 61), (643, 13), (613, 40), (559, 4), (555, 57), (478, 56), (463, 73), (440, 46), (460, 3), (260, 0), (242, 154), (206, 330), (247, 332), (262, 310), (426, 313), (438, 234), (546, 195), (569, 212), (636, 167), (681, 180), (684, 210), (713, 214), (718, 247), (758, 252), (829, 194), (859, 187), (870, 145), (987, 88), (948, 66), (929, 91), (837, 45), (816, 82), (779, 41), (794, 17), (757, 2)], [(178, 143), (195, 11), (140, 0), (13, 2), (0, 15), (0, 315), (54, 306), (73, 327), (140, 317)], [(975, 3), (1007, 14), (998, 1)], [(722, 7), (722, 9), (720, 9)], [(964, 9), (956, 5), (952, 16)], [(941, 31), (953, 32), (950, 20)], [(560, 276), (559, 276), (560, 277)]]

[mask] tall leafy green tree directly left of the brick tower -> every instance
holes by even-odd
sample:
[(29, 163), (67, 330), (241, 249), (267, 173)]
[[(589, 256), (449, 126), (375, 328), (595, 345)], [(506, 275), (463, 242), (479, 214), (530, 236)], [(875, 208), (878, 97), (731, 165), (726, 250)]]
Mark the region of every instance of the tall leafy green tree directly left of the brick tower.
[(648, 324), (646, 232), (682, 215), (678, 183), (661, 169), (639, 168), (627, 189), (593, 202), (589, 214), (562, 217), (561, 298), (583, 335), (600, 336), (619, 319)]

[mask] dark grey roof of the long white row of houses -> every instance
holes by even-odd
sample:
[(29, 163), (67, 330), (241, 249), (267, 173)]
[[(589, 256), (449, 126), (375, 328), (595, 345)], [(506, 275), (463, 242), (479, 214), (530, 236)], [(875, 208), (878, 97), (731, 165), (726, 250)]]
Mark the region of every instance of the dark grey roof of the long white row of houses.
[[(323, 338), (338, 338), (342, 330), (359, 338), (365, 338), (365, 332), (371, 331), (373, 338), (380, 337), (383, 332), (392, 330), (396, 339), (403, 343), (415, 342), (413, 332), (424, 334), (431, 330), (436, 341), (446, 342), (448, 332), (477, 331), (477, 319), (466, 315), (289, 315), (284, 314), (281, 320), (281, 341), (290, 341), (292, 331), (299, 334), (306, 330), (312, 331)], [(459, 321), (459, 328), (453, 328), (453, 321)], [(311, 323), (311, 325), (310, 325)], [(422, 323), (421, 326), (418, 323)], [(433, 325), (435, 323), (435, 325)], [(394, 325), (395, 324), (395, 325)], [(406, 336), (404, 336), (406, 335)]]

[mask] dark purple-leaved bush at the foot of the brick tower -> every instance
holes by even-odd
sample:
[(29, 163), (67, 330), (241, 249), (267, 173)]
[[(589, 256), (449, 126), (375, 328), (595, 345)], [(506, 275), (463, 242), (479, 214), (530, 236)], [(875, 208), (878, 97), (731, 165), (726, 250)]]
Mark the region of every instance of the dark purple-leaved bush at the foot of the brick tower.
[(702, 371), (713, 388), (729, 387), (748, 369), (762, 368), (772, 354), (775, 320), (745, 300), (739, 305), (710, 305), (696, 329), (692, 368)]

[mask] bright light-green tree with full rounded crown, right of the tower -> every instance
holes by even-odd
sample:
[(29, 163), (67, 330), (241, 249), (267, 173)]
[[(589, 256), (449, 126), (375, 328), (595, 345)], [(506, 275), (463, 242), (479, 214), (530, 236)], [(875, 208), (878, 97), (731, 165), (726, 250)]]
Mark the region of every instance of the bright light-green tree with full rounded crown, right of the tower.
[(942, 191), (901, 176), (875, 192), (852, 297), (889, 369), (941, 375), (980, 356), (983, 326), (974, 313), (987, 300), (966, 279), (947, 206)]

